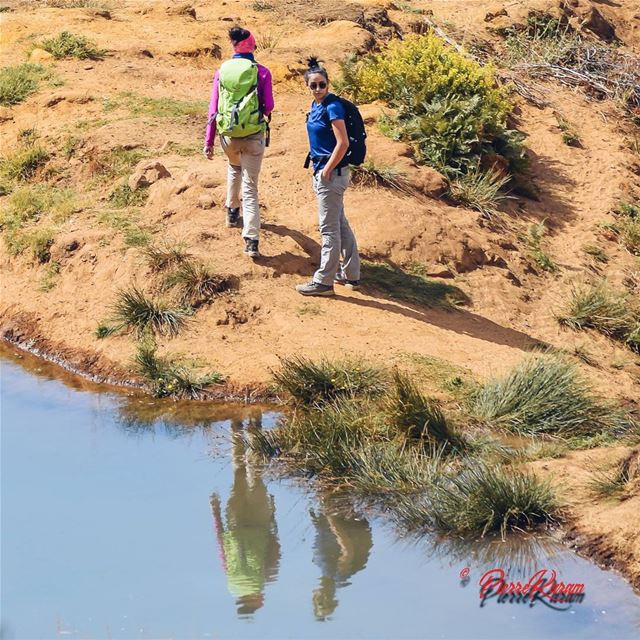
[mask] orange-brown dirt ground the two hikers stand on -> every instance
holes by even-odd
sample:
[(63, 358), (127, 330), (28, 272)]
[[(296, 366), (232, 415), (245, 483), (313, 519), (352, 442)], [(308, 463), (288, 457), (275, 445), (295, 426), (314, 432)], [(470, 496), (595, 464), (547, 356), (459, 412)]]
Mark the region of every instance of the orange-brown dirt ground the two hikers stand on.
[[(500, 25), (557, 3), (406, 3), (426, 13), (383, 0), (190, 5), (105, 0), (93, 8), (59, 8), (62, 0), (3, 4), (12, 10), (0, 14), (2, 66), (29, 56), (51, 63), (58, 86), (44, 83), (24, 103), (0, 109), (2, 148), (15, 148), (19, 132), (35, 129), (51, 154), (49, 173), (38, 179), (74, 189), (81, 202), (51, 248), (59, 273), (48, 290), (42, 283), (49, 265), (27, 255), (11, 257), (1, 244), (0, 331), (5, 340), (97, 380), (136, 382), (134, 338), (95, 336), (118, 290), (134, 283), (150, 287), (156, 281), (140, 248), (127, 242), (122, 227), (108, 222), (113, 217), (109, 194), (127, 176), (105, 180), (100, 168), (124, 148), (159, 161), (171, 174), (150, 187), (149, 200), (131, 224), (156, 242), (184, 243), (216, 272), (239, 282), (232, 295), (200, 308), (179, 336), (160, 342), (163, 354), (222, 372), (228, 384), (221, 395), (260, 395), (279, 358), (293, 354), (353, 353), (382, 362), (425, 355), (486, 379), (513, 367), (533, 347), (552, 345), (592, 354), (597, 366), (581, 363), (585, 375), (604, 395), (637, 407), (640, 360), (596, 333), (562, 330), (555, 317), (576, 284), (606, 276), (620, 286), (640, 269), (606, 230), (614, 220), (612, 209), (638, 185), (632, 145), (637, 133), (621, 124), (610, 103), (590, 101), (579, 91), (539, 82), (550, 106), (539, 109), (518, 100), (517, 126), (527, 134), (540, 200), (510, 200), (500, 225), (488, 225), (477, 212), (429, 197), (437, 194), (439, 178), (414, 166), (415, 180), (425, 185), (420, 197), (381, 188), (349, 189), (346, 212), (363, 257), (391, 265), (419, 264), (425, 273), (458, 287), (468, 304), (454, 311), (427, 309), (381, 294), (366, 282), (361, 292), (339, 290), (333, 299), (304, 299), (294, 290), (310, 278), (319, 257), (311, 178), (303, 168), (310, 103), (301, 78), (305, 57), (319, 55), (336, 72), (346, 54), (415, 30), (416, 21), (425, 16), (460, 42), (490, 41)], [(263, 5), (271, 8), (260, 9)], [(597, 8), (615, 25), (624, 46), (638, 52), (640, 3), (574, 0), (571, 6), (572, 20), (578, 22)], [(503, 11), (506, 15), (487, 19)], [(212, 161), (199, 153), (211, 79), (230, 53), (226, 32), (235, 22), (254, 31), (262, 43), (258, 60), (272, 70), (276, 99), (260, 183), (262, 257), (255, 261), (242, 254), (239, 230), (223, 224), (225, 158), (219, 149)], [(43, 59), (38, 41), (63, 29), (93, 39), (109, 55), (101, 61)], [(145, 98), (202, 101), (202, 113), (163, 117), (136, 112)], [(405, 158), (405, 166), (407, 148), (376, 131), (379, 108), (366, 106), (363, 112), (368, 114), (370, 157)], [(572, 123), (580, 147), (562, 144), (558, 115)], [(179, 153), (180, 147), (190, 151)], [(127, 209), (124, 215), (132, 214)], [(544, 249), (559, 265), (555, 273), (536, 264), (524, 240), (529, 226), (542, 220), (549, 228)], [(587, 255), (587, 245), (602, 248), (607, 263)], [(588, 498), (580, 483), (591, 455), (617, 452), (576, 452), (543, 461), (540, 467), (575, 485), (570, 511), (577, 539), (588, 540), (584, 544), (593, 553), (596, 547), (610, 553), (638, 587), (640, 498), (616, 505)]]

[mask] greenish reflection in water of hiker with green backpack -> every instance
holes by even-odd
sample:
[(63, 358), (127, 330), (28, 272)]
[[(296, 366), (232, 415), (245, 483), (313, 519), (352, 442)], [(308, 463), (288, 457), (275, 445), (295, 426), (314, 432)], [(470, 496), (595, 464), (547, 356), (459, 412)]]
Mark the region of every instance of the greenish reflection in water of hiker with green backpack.
[(233, 420), (231, 429), (234, 477), (226, 526), (216, 494), (211, 496), (211, 510), (229, 592), (238, 614), (251, 615), (264, 604), (265, 584), (278, 574), (280, 544), (273, 497), (244, 458), (242, 421)]

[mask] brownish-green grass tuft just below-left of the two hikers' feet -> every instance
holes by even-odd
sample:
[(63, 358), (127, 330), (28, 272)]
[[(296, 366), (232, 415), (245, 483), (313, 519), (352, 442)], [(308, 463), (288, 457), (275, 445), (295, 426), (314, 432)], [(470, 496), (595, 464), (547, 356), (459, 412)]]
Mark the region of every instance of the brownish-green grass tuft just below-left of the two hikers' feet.
[(210, 302), (233, 286), (232, 277), (214, 273), (206, 265), (194, 260), (183, 260), (163, 282), (163, 288), (176, 290), (181, 304), (193, 308)]

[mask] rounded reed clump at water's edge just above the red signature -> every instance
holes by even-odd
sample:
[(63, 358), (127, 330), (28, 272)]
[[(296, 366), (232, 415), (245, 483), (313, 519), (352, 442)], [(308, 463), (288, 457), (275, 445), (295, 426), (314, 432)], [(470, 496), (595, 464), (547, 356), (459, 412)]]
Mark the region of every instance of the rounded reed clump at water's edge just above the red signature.
[(436, 486), (428, 498), (428, 521), (461, 535), (504, 537), (508, 530), (553, 523), (559, 513), (547, 482), (513, 468), (474, 462)]

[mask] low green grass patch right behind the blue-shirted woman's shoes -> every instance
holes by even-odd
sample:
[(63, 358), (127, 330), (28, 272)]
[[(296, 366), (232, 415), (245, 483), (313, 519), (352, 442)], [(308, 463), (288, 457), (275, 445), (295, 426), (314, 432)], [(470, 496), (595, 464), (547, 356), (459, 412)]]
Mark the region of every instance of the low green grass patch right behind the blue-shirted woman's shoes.
[(454, 285), (382, 262), (363, 261), (362, 280), (367, 288), (380, 291), (389, 298), (422, 307), (452, 309), (469, 302), (468, 296)]

